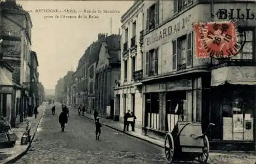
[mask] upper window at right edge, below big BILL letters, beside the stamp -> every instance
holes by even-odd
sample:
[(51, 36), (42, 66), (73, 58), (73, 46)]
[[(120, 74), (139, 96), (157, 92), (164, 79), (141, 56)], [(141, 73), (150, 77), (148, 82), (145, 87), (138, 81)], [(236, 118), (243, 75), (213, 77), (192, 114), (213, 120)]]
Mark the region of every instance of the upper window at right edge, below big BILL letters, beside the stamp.
[[(255, 30), (239, 28), (239, 31), (241, 32), (241, 34), (245, 31), (246, 41), (240, 53), (234, 56), (231, 60), (255, 60), (255, 55), (253, 55), (254, 54), (253, 45), (255, 44)], [(239, 43), (242, 43), (244, 40), (243, 36), (238, 37), (238, 39), (239, 39)]]

